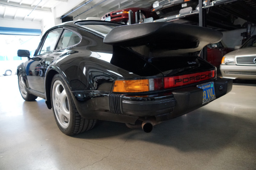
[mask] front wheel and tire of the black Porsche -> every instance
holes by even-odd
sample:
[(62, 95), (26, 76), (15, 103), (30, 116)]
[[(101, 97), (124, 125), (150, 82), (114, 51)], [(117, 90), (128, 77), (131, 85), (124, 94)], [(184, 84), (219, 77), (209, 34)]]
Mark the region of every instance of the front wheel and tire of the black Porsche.
[(26, 91), (26, 84), (24, 82), (24, 79), (21, 73), (18, 74), (18, 84), (19, 84), (20, 94), (25, 101), (33, 101), (36, 98), (38, 98), (37, 96), (33, 94), (29, 94), (29, 92)]

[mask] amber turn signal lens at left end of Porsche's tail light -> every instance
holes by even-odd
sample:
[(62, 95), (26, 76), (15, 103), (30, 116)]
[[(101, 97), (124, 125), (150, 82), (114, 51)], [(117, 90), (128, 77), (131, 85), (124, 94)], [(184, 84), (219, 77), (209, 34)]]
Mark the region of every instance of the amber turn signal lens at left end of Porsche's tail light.
[(134, 93), (149, 91), (149, 80), (116, 80), (113, 92)]

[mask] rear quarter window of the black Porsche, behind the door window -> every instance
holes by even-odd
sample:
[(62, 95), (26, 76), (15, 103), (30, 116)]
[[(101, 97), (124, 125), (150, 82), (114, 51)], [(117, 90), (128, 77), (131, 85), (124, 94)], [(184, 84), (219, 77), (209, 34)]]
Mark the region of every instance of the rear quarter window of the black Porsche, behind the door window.
[(61, 38), (58, 42), (56, 50), (64, 49), (73, 45), (78, 44), (81, 38), (74, 32), (65, 29), (61, 34)]

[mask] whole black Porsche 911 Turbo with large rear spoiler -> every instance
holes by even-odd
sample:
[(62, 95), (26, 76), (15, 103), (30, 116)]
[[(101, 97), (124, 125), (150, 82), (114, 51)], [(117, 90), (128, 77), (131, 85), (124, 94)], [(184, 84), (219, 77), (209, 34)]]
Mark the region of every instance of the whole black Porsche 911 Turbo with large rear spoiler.
[[(59, 129), (74, 135), (97, 120), (128, 127), (153, 125), (186, 114), (232, 89), (201, 59), (222, 34), (175, 23), (81, 20), (49, 29), (33, 57), (17, 67), (21, 96), (45, 99)], [(40, 66), (41, 73), (37, 68)]]

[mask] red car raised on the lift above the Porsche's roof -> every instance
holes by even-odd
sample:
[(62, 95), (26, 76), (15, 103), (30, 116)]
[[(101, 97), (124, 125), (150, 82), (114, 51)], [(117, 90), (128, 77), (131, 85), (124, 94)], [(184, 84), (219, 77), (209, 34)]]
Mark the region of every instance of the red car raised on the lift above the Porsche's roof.
[(108, 12), (107, 14), (101, 17), (101, 20), (126, 24), (127, 21), (129, 20), (128, 14), (130, 10), (133, 11), (134, 20), (135, 20), (135, 12), (137, 12), (138, 14), (138, 20), (149, 18), (149, 17), (153, 17), (154, 20), (158, 19), (157, 15), (151, 12), (151, 9), (125, 8), (125, 9), (119, 9), (117, 11)]

